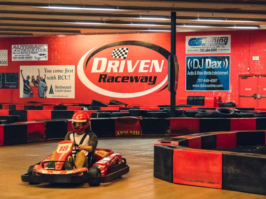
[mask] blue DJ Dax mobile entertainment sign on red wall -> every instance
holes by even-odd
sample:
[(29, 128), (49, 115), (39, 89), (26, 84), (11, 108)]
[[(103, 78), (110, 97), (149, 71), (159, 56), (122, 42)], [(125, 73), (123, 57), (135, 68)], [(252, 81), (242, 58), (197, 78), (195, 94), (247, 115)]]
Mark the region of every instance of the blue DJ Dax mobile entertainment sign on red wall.
[(220, 90), (230, 90), (230, 56), (186, 56), (186, 91)]

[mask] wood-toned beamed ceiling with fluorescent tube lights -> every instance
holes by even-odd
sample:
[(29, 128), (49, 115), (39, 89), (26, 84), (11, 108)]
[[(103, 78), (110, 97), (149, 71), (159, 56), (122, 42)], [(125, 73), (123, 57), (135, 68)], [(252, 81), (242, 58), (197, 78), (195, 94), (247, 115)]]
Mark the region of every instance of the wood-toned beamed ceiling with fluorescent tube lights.
[(0, 0), (0, 37), (171, 31), (171, 12), (177, 32), (266, 29), (266, 1)]

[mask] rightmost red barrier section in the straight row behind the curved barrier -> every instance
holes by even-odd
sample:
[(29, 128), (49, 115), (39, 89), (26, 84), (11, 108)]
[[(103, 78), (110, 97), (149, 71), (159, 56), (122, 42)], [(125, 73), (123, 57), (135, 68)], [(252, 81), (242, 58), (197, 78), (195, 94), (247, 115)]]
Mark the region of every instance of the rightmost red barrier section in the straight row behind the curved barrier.
[(231, 118), (231, 131), (256, 130), (256, 118)]

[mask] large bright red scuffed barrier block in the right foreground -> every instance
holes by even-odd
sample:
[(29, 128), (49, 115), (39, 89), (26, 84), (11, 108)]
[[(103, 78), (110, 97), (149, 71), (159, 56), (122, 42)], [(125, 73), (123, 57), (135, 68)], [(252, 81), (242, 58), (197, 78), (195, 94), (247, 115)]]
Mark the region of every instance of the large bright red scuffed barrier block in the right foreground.
[(174, 149), (173, 182), (222, 188), (222, 154), (202, 149)]

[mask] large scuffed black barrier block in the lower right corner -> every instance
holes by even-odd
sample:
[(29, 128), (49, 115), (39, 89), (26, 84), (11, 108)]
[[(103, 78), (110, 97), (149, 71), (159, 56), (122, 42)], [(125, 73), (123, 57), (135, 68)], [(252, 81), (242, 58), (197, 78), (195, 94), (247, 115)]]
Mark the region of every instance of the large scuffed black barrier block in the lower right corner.
[(266, 195), (265, 163), (261, 154), (223, 154), (222, 188)]

